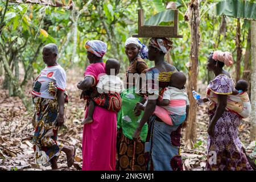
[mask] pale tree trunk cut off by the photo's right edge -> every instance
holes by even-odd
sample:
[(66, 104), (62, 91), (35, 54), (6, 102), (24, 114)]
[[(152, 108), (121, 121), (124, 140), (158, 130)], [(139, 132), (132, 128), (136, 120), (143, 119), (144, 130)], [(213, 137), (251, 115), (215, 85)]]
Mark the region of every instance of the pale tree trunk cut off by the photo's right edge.
[(250, 140), (256, 140), (256, 21), (251, 20), (251, 132)]

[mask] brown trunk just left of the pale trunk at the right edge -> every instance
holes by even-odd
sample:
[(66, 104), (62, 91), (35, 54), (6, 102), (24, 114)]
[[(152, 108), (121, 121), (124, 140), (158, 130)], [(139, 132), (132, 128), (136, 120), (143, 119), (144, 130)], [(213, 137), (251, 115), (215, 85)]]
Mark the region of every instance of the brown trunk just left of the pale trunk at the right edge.
[(247, 37), (247, 44), (246, 44), (246, 51), (245, 51), (245, 59), (243, 60), (243, 80), (248, 82), (248, 91), (250, 97), (250, 88), (251, 88), (251, 29), (249, 28), (248, 37)]

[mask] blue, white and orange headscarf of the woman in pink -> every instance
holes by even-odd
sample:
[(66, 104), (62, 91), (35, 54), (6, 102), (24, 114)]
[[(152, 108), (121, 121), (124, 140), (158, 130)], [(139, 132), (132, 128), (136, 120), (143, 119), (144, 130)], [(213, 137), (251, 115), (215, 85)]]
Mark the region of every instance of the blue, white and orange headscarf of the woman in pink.
[(98, 57), (103, 57), (106, 53), (107, 44), (101, 40), (88, 40), (85, 42), (84, 46), (87, 51), (92, 52)]

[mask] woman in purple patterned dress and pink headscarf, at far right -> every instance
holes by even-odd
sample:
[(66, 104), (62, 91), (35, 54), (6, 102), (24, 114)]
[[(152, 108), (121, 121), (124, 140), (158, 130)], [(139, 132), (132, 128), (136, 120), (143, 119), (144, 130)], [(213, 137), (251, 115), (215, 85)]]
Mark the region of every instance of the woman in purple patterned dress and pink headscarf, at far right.
[[(210, 100), (206, 166), (208, 171), (252, 170), (238, 138), (237, 129), (241, 118), (226, 109), (234, 82), (222, 68), (224, 64), (232, 65), (232, 60), (229, 52), (215, 51), (208, 57), (207, 69), (213, 71), (216, 76), (207, 88), (207, 98)], [(213, 102), (214, 97), (217, 97), (217, 103)]]

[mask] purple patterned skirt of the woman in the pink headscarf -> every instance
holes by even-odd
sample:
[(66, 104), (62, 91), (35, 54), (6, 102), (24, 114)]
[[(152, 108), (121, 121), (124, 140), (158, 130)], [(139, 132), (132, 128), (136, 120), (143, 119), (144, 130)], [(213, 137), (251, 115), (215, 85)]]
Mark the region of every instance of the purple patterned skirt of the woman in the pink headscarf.
[[(210, 112), (213, 117), (214, 111)], [(237, 114), (225, 111), (214, 126), (214, 136), (207, 143), (207, 171), (251, 171), (242, 143), (238, 138), (241, 119)]]

